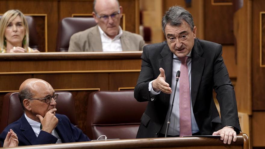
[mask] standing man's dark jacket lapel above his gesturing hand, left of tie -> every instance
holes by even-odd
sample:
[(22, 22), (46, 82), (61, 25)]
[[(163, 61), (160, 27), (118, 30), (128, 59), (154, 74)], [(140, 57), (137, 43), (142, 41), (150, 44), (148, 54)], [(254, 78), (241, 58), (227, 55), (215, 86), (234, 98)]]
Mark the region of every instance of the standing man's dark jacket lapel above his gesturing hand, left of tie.
[[(160, 54), (163, 58), (158, 60), (159, 67), (164, 69), (166, 75), (166, 82), (171, 87), (173, 53), (170, 51), (167, 43)], [(164, 100), (167, 103), (167, 105), (169, 104), (169, 98), (170, 94), (164, 94)]]

